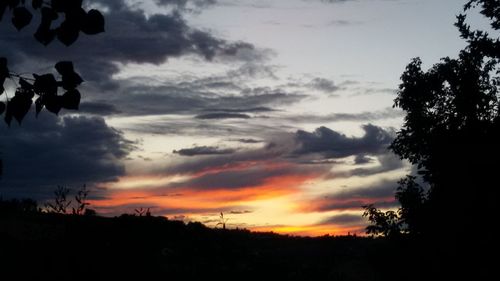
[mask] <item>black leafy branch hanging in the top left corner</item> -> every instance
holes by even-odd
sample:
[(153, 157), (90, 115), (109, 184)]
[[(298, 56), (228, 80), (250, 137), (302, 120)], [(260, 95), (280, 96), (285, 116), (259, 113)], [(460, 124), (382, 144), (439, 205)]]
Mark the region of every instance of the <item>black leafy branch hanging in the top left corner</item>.
[[(97, 10), (88, 12), (82, 8), (82, 0), (32, 0), (31, 11), (25, 0), (1, 0), (0, 21), (7, 10), (12, 13), (12, 24), (17, 30), (28, 26), (33, 19), (33, 12), (41, 15), (40, 25), (36, 30), (35, 39), (43, 45), (48, 45), (56, 37), (66, 46), (73, 44), (80, 31), (94, 35), (104, 32), (104, 17)], [(58, 27), (53, 22), (64, 16)]]

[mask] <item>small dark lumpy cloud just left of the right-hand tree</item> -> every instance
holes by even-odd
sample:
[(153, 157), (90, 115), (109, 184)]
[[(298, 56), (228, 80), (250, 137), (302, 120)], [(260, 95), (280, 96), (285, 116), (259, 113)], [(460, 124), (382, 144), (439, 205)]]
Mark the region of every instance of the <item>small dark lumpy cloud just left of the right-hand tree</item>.
[(312, 133), (299, 130), (295, 139), (300, 147), (294, 153), (317, 153), (326, 158), (385, 153), (394, 139), (393, 133), (372, 124), (362, 128), (365, 134), (359, 138), (348, 137), (327, 127), (320, 127)]

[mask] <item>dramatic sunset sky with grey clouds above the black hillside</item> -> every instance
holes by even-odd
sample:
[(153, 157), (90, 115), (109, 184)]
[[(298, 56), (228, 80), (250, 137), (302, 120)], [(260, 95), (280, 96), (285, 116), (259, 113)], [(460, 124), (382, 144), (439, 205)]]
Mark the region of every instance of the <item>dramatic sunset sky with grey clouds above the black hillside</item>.
[(86, 82), (76, 114), (0, 124), (0, 195), (43, 201), (87, 184), (105, 215), (149, 207), (214, 226), (223, 212), (229, 227), (360, 233), (361, 206), (394, 207), (412, 170), (387, 150), (399, 76), (413, 57), (428, 67), (464, 46), (462, 2), (92, 0), (106, 32), (71, 47), (4, 17), (12, 71), (71, 60)]

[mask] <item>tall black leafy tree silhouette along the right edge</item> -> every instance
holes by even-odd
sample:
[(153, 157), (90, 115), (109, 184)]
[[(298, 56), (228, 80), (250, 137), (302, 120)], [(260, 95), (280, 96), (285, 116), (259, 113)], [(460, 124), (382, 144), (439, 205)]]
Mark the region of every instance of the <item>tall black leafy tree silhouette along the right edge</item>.
[(500, 2), (469, 1), (455, 24), (468, 43), (458, 57), (443, 58), (427, 71), (416, 58), (401, 76), (394, 106), (406, 116), (390, 149), (416, 165), (429, 185), (424, 194), (415, 178), (407, 178), (396, 194), (401, 225), (413, 234), (472, 234), (493, 219), (498, 180), (490, 160), (500, 157), (500, 41), (466, 23), (465, 13), (475, 7), (494, 31), (500, 29)]

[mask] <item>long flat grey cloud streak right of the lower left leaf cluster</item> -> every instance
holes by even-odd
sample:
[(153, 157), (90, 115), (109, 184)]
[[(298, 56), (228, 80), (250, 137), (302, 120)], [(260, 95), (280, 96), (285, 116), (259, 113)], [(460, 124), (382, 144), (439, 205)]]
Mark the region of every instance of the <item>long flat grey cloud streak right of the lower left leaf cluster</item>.
[(270, 112), (273, 111), (271, 107), (290, 105), (306, 97), (303, 94), (287, 93), (282, 89), (253, 88), (236, 93), (219, 93), (199, 90), (196, 86), (189, 87), (185, 84), (182, 87), (175, 84), (130, 86), (127, 87), (126, 95), (112, 94), (108, 96), (108, 101), (122, 111), (123, 115), (205, 115)]

